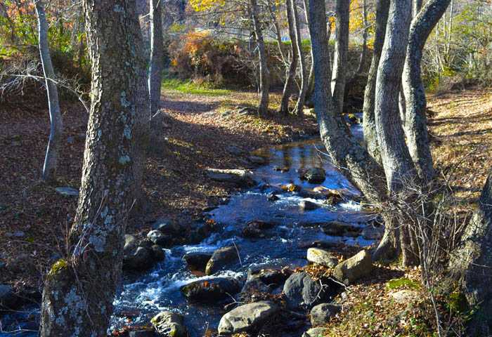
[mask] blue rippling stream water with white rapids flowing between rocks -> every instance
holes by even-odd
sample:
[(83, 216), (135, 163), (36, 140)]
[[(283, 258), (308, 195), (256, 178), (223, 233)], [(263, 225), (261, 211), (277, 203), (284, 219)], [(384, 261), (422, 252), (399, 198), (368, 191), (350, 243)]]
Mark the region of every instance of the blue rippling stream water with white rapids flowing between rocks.
[[(361, 129), (353, 128), (353, 132), (360, 134)], [(179, 291), (184, 284), (200, 279), (192, 275), (186, 267), (183, 256), (188, 252), (211, 253), (222, 246), (235, 244), (238, 247), (240, 263), (232, 266), (231, 270), (220, 272), (214, 277), (244, 278), (249, 268), (305, 265), (307, 262), (306, 248), (301, 248), (302, 242), (323, 240), (360, 246), (372, 244), (373, 242), (361, 237), (330, 237), (321, 232), (319, 227), (309, 226), (309, 223), (342, 220), (363, 227), (370, 218), (373, 218), (373, 215), (364, 213), (355, 201), (349, 200), (337, 206), (328, 206), (323, 204), (321, 199), (304, 198), (299, 193), (293, 192), (280, 192), (277, 194), (278, 201), (268, 201), (267, 195), (270, 192), (278, 192), (278, 187), (287, 183), (302, 186), (304, 190), (323, 185), (332, 189), (346, 189), (358, 194), (349, 181), (330, 164), (323, 151), (323, 146), (315, 140), (257, 151), (257, 155), (268, 159), (268, 164), (254, 171), (259, 185), (252, 190), (233, 195), (228, 204), (219, 206), (209, 213), (211, 218), (223, 226), (219, 232), (212, 234), (200, 244), (165, 249), (164, 262), (137, 279), (127, 279), (122, 286), (122, 293), (115, 300), (112, 326), (148, 324), (150, 318), (157, 312), (172, 310), (184, 315), (190, 337), (203, 336), (208, 327), (216, 329), (221, 316), (225, 313), (223, 307), (187, 303)], [(310, 167), (325, 169), (326, 180), (322, 184), (313, 185), (300, 180), (299, 169)], [(283, 168), (283, 171), (276, 171), (276, 168)], [(299, 208), (302, 200), (312, 201), (320, 207), (313, 211), (302, 211)], [(278, 225), (268, 230), (265, 239), (242, 238), (240, 236), (242, 227), (250, 220), (264, 220), (278, 223)], [(22, 326), (15, 322), (16, 319), (21, 322), (24, 318), (26, 322), (29, 322), (27, 319), (29, 315), (32, 315), (32, 312), (4, 317), (2, 319), (4, 330), (12, 331), (17, 329), (16, 326), (20, 329), (30, 328), (32, 323), (30, 326)], [(30, 320), (32, 321), (32, 317)], [(0, 332), (0, 336), (31, 337), (37, 334), (32, 331)]]

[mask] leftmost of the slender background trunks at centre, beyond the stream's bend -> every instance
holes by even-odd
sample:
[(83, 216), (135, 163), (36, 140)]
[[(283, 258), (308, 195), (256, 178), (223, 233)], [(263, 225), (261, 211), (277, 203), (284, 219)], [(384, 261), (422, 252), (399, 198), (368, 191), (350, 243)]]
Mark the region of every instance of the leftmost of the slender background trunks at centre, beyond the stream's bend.
[(251, 16), (253, 20), (254, 35), (257, 39), (258, 58), (259, 58), (259, 91), (260, 101), (258, 114), (266, 114), (268, 112), (268, 95), (270, 91), (270, 72), (268, 70), (268, 62), (266, 60), (265, 41), (263, 39), (263, 31), (261, 22), (259, 22), (259, 10), (257, 0), (250, 0)]

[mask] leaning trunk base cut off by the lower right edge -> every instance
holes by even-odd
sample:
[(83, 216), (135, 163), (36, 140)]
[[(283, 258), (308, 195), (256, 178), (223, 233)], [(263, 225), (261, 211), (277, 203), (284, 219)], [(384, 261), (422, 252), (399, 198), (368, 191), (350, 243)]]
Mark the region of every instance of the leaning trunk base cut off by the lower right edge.
[[(466, 336), (492, 334), (492, 171), (479, 199), (479, 208), (451, 253), (449, 269), (474, 310)], [(453, 289), (454, 290), (454, 289)]]

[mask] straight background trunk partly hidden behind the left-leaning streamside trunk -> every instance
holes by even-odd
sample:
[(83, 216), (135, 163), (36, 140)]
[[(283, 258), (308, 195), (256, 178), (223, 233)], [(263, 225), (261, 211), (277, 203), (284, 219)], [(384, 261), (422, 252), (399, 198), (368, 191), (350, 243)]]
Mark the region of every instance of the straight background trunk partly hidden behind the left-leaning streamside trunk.
[(337, 25), (335, 34), (335, 57), (332, 69), (332, 96), (338, 112), (342, 113), (344, 107), (345, 83), (347, 81), (347, 62), (349, 53), (349, 0), (337, 0), (336, 2)]

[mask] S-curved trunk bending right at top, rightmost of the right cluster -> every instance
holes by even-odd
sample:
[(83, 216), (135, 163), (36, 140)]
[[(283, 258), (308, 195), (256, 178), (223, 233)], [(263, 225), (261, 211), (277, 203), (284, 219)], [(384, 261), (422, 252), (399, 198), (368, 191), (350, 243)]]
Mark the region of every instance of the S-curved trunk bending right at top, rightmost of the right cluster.
[(427, 132), (427, 100), (422, 83), (420, 63), (429, 34), (448, 8), (451, 0), (429, 0), (413, 19), (408, 37), (403, 92), (406, 98), (406, 137), (408, 150), (420, 178), (429, 183), (434, 178), (434, 165)]

